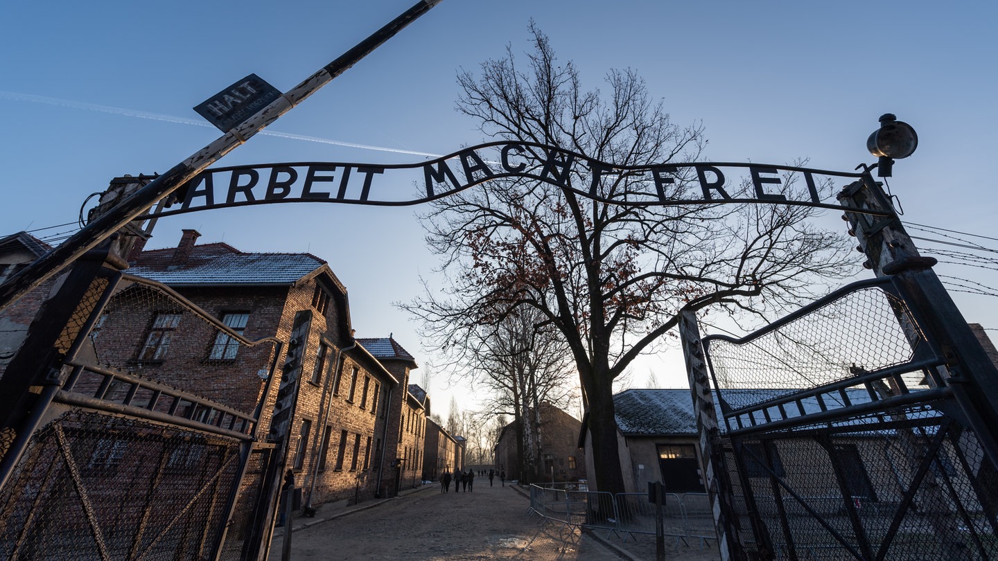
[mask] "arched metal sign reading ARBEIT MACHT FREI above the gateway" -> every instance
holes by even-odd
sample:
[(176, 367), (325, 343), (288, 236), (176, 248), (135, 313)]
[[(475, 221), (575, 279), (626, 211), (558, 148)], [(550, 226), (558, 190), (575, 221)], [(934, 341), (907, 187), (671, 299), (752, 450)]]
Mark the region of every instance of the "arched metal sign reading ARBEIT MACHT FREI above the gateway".
[[(234, 87), (241, 92), (241, 84)], [(254, 103), (250, 100), (249, 103)], [(492, 153), (485, 152), (491, 149)], [(581, 167), (574, 167), (581, 164)], [(455, 168), (460, 167), (460, 171)], [(264, 170), (269, 170), (268, 172)], [(696, 171), (697, 179), (693, 179)], [(228, 184), (224, 201), (215, 202), (217, 176)], [(265, 195), (262, 175), (267, 174)], [(360, 174), (362, 177), (356, 177)], [(423, 182), (426, 195), (410, 198), (397, 190), (378, 192), (372, 199), (374, 176), (391, 174), (391, 185)], [(573, 174), (587, 185), (572, 186)], [(793, 174), (803, 174), (806, 192), (790, 189)], [(726, 177), (728, 176), (728, 177)], [(165, 207), (156, 216), (217, 207), (235, 207), (260, 203), (329, 202), (364, 205), (416, 205), (444, 197), (500, 177), (520, 177), (543, 182), (582, 197), (619, 205), (703, 205), (719, 203), (756, 203), (818, 206), (837, 209), (833, 201), (822, 202), (820, 188), (838, 179), (852, 181), (860, 177), (852, 172), (829, 172), (789, 166), (688, 163), (619, 166), (586, 158), (581, 154), (534, 143), (495, 142), (465, 148), (449, 156), (428, 162), (397, 165), (344, 163), (266, 164), (239, 168), (208, 170), (178, 191), (183, 208)], [(626, 190), (611, 190), (613, 182), (626, 178)], [(327, 193), (316, 185), (331, 184)], [(351, 188), (352, 184), (356, 184)], [(333, 187), (333, 185), (335, 187)], [(699, 185), (699, 189), (698, 189)], [(772, 187), (775, 186), (775, 187)], [(733, 190), (731, 193), (729, 189)], [(766, 190), (771, 192), (766, 192)], [(350, 192), (352, 191), (352, 193)], [(823, 191), (820, 191), (824, 193)], [(873, 215), (881, 216), (873, 212)]]

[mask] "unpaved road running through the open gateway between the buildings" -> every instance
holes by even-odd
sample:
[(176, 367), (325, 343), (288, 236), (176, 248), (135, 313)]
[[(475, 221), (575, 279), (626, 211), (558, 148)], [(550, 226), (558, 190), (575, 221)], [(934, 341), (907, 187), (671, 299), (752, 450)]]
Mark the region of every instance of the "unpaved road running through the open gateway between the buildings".
[[(488, 481), (484, 483), (476, 481), (475, 490), (470, 493), (455, 493), (453, 488), (449, 493), (441, 493), (439, 485), (424, 485), (377, 506), (295, 531), (290, 558), (294, 561), (621, 559), (612, 546), (592, 536), (543, 523), (528, 512), (529, 500), (512, 487), (502, 487), (498, 481), (493, 487), (488, 486)], [(295, 519), (294, 525), (306, 520), (318, 521), (333, 512), (320, 510), (316, 518)], [(631, 548), (632, 559), (655, 559), (654, 538), (644, 544), (632, 540), (620, 545)], [(269, 561), (279, 561), (281, 549), (281, 539), (275, 539)], [(671, 549), (670, 558), (674, 559), (718, 559), (714, 550)], [(705, 553), (708, 556), (703, 556)]]

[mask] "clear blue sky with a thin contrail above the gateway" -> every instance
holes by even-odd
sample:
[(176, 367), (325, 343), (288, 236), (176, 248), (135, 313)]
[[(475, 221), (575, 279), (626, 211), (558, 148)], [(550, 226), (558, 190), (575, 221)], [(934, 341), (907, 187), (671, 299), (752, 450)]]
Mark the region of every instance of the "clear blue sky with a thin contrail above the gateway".
[[(0, 234), (73, 222), (112, 178), (165, 172), (220, 136), (194, 106), (250, 73), (286, 91), (412, 3), (3, 3)], [(702, 121), (705, 160), (809, 158), (815, 168), (852, 170), (874, 160), (866, 137), (881, 114), (895, 113), (919, 134), (917, 152), (890, 180), (904, 219), (998, 237), (989, 169), (998, 149), (996, 12), (969, 1), (443, 0), (267, 129), (331, 142), (257, 136), (218, 165), (406, 163), (421, 158), (404, 151), (477, 144), (475, 123), (454, 111), (455, 74), (509, 44), (527, 50), (533, 18), (587, 87), (600, 87), (611, 68), (634, 68), (675, 122)], [(346, 284), (358, 336), (394, 333), (419, 357), (415, 325), (391, 305), (416, 295), (419, 276), (436, 265), (413, 213), (209, 211), (164, 219), (150, 247), (174, 246), (181, 229), (195, 228), (202, 242), (245, 251), (310, 252)], [(998, 285), (993, 270), (939, 270), (947, 271)], [(968, 320), (998, 327), (994, 296), (954, 296)], [(683, 374), (665, 371), (675, 364), (636, 366), (636, 385), (650, 368), (676, 385)], [(430, 389), (449, 395), (444, 386)], [(436, 402), (446, 407), (445, 399)]]

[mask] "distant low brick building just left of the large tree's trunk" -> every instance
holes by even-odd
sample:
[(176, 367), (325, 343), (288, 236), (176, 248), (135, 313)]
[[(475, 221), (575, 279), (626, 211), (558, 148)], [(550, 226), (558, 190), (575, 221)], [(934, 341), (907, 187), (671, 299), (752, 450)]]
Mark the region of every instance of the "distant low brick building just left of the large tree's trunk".
[[(579, 447), (582, 422), (547, 402), (540, 405), (538, 477), (542, 481), (578, 481), (586, 478), (586, 463)], [(507, 479), (526, 481), (530, 474), (522, 473), (520, 444), (523, 431), (520, 421), (502, 428), (495, 447), (496, 469), (506, 472)]]

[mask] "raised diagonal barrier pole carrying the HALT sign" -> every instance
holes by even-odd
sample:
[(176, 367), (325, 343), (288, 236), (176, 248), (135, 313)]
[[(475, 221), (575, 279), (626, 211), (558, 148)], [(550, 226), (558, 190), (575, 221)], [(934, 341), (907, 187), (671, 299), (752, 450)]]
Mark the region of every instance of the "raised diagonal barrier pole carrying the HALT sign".
[(215, 142), (191, 155), (149, 185), (135, 192), (107, 214), (94, 220), (59, 247), (45, 254), (8, 281), (0, 284), (0, 310), (16, 301), (25, 292), (51, 279), (88, 251), (107, 240), (128, 223), (147, 213), (158, 201), (177, 191), (226, 154), (246, 143), (250, 137), (290, 111), (319, 88), (352, 67), (405, 26), (425, 14), (440, 0), (419, 0), (414, 6), (375, 31), (352, 49), (325, 65), (297, 86), (229, 131)]

